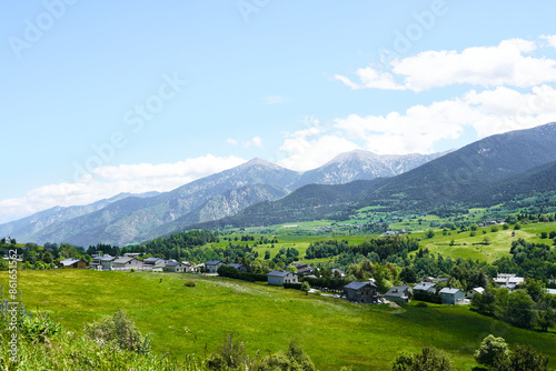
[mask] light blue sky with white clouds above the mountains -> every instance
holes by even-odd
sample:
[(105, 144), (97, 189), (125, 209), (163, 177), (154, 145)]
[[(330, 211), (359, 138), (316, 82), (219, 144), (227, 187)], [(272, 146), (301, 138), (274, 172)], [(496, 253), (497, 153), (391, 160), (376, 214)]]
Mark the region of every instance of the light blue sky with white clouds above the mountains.
[(553, 1), (0, 6), (0, 223), (262, 158), (433, 153), (556, 121)]

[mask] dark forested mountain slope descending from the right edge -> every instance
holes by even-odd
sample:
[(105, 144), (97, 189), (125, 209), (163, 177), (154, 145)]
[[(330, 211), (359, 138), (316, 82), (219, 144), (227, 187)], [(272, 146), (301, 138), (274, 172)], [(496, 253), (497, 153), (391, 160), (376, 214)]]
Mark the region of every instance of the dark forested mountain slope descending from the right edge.
[(427, 213), (489, 207), (520, 195), (556, 192), (556, 123), (492, 136), (391, 178), (311, 184), (236, 215), (189, 228), (271, 225), (330, 219), (364, 207)]

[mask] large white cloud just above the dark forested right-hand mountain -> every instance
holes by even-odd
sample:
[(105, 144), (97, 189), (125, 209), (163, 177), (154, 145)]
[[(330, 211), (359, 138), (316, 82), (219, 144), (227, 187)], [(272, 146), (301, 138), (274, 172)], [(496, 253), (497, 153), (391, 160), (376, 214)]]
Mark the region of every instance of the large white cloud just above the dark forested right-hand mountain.
[(461, 98), (414, 106), (405, 113), (360, 117), (350, 114), (336, 120), (336, 128), (353, 139), (361, 139), (377, 153), (427, 153), (440, 140), (457, 139), (465, 128), (478, 138), (510, 130), (533, 128), (555, 121), (556, 90), (535, 87), (522, 93), (509, 88), (476, 92)]

